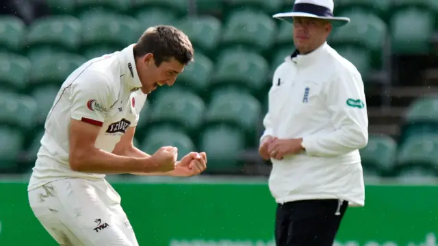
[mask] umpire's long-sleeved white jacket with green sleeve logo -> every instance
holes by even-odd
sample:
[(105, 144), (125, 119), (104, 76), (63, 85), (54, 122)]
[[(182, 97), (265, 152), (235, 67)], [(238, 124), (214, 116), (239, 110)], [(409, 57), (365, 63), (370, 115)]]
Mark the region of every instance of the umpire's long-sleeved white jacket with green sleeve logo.
[(303, 138), (306, 151), (272, 159), (276, 202), (341, 199), (365, 204), (359, 149), (368, 143), (363, 82), (356, 67), (324, 43), (289, 56), (274, 72), (264, 136)]

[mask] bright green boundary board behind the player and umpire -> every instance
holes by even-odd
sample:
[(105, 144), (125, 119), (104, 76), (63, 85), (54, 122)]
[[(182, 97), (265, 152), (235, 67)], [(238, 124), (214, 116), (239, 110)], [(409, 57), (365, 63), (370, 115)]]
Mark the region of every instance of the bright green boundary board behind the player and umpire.
[[(272, 245), (266, 181), (112, 182), (140, 245)], [(34, 218), (26, 182), (0, 183), (0, 245), (56, 245)], [(438, 245), (438, 186), (366, 186), (335, 245)], [(392, 242), (392, 243), (391, 243)]]

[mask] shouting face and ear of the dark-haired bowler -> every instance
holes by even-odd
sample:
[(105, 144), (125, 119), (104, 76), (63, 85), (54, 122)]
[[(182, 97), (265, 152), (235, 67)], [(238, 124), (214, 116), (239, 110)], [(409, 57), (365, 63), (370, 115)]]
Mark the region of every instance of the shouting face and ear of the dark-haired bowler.
[[(148, 57), (151, 56), (151, 57)], [(158, 86), (172, 86), (179, 73), (184, 70), (184, 64), (181, 64), (174, 58), (162, 62), (159, 66), (155, 65), (152, 54), (147, 54), (144, 59), (144, 66), (139, 72), (140, 81), (142, 82), (142, 92), (149, 94)]]

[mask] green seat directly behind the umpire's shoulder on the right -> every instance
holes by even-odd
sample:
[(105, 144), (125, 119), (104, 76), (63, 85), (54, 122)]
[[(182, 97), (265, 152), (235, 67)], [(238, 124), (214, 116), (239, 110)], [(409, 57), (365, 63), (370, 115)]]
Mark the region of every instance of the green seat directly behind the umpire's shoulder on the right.
[(343, 45), (334, 47), (337, 53), (354, 64), (361, 73), (364, 81), (368, 79), (371, 70), (371, 52), (366, 48), (355, 47), (352, 45)]

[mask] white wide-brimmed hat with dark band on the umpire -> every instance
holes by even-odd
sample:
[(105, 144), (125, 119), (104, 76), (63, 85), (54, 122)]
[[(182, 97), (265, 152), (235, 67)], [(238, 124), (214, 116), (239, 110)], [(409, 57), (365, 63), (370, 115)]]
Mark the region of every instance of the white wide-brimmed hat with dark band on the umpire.
[[(382, 0), (385, 1), (385, 0)], [(272, 17), (291, 22), (293, 17), (311, 17), (330, 21), (334, 27), (341, 27), (350, 22), (348, 17), (333, 16), (333, 0), (295, 0), (292, 12), (274, 14)]]

